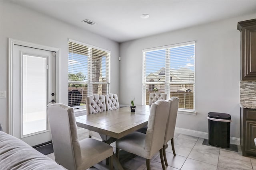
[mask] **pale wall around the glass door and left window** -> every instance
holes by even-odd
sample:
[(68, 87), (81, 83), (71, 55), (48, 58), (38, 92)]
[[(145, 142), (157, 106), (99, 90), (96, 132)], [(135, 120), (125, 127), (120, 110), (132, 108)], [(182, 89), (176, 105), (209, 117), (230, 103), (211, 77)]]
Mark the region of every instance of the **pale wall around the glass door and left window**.
[[(60, 48), (60, 102), (68, 104), (68, 38), (111, 51), (111, 92), (119, 92), (119, 44), (33, 10), (0, 1), (0, 90), (8, 92), (8, 38)], [(0, 123), (8, 132), (8, 94), (0, 99)]]

